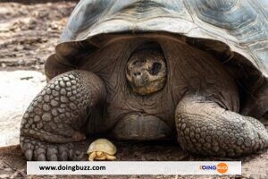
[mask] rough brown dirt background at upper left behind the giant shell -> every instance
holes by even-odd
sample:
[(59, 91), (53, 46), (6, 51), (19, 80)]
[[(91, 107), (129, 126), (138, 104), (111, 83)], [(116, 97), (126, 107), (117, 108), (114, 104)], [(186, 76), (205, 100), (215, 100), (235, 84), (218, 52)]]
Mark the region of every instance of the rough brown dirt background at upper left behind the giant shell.
[(0, 2), (0, 70), (42, 71), (77, 1)]

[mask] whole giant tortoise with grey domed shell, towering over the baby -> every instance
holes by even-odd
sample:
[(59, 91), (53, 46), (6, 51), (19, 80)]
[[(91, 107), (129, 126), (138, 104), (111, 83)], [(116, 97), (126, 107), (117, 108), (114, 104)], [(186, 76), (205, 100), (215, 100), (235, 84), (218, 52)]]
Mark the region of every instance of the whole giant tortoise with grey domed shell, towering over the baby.
[(27, 160), (74, 141), (177, 138), (196, 155), (268, 146), (268, 12), (262, 0), (81, 0), (21, 123)]

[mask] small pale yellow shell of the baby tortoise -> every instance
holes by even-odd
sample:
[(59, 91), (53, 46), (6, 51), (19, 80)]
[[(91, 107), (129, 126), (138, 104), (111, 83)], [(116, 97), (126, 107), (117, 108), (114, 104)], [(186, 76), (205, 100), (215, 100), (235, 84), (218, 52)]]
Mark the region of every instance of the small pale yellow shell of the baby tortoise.
[(106, 139), (98, 139), (89, 145), (87, 153), (91, 154), (94, 151), (103, 151), (109, 155), (114, 155), (116, 153), (116, 147), (111, 141)]

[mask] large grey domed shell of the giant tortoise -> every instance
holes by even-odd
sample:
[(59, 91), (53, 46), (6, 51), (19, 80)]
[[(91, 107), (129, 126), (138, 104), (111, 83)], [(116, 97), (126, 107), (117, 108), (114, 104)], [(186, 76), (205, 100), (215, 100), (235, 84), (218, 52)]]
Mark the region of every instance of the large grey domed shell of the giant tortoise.
[(113, 38), (164, 33), (221, 56), (239, 85), (252, 91), (268, 77), (267, 19), (264, 0), (81, 0), (46, 62), (46, 76), (80, 68), (81, 55)]

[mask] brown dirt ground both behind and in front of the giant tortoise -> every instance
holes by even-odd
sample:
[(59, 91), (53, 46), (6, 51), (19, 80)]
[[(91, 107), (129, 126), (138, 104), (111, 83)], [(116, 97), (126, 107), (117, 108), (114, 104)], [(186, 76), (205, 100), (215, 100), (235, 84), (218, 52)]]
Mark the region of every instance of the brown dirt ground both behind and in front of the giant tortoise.
[[(0, 71), (35, 70), (43, 72), (46, 57), (54, 52), (72, 9), (78, 1), (0, 1)], [(3, 3), (4, 2), (4, 3)], [(20, 2), (20, 3), (18, 3)], [(1, 99), (0, 99), (1, 100)], [(84, 141), (85, 150), (91, 140)], [(18, 145), (0, 149), (0, 178), (268, 178), (267, 150), (242, 158), (197, 158), (174, 142), (118, 142), (118, 160), (137, 161), (242, 161), (242, 175), (26, 175), (26, 161)]]

